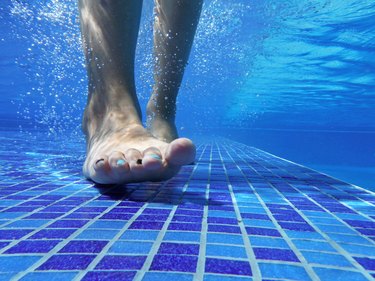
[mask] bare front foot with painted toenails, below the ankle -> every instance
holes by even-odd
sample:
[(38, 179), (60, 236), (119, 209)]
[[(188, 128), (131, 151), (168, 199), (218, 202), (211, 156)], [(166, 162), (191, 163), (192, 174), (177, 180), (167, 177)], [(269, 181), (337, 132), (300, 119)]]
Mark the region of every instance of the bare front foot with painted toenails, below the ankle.
[(104, 121), (102, 129), (87, 136), (83, 174), (94, 182), (166, 180), (177, 174), (182, 165), (194, 161), (195, 146), (191, 140), (161, 141), (138, 123), (121, 126), (120, 120), (111, 119), (110, 125), (106, 126)]

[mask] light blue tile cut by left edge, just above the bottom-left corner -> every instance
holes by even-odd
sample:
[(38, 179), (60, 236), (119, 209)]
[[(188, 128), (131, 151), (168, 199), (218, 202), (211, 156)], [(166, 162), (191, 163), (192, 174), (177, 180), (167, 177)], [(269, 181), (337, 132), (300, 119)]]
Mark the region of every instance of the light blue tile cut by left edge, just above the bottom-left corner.
[(0, 272), (19, 272), (24, 271), (41, 256), (0, 256)]

